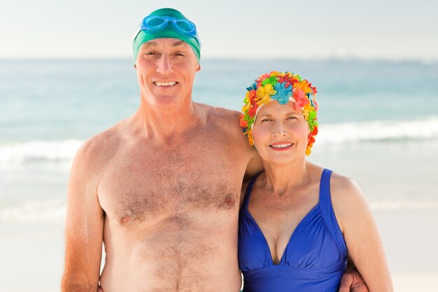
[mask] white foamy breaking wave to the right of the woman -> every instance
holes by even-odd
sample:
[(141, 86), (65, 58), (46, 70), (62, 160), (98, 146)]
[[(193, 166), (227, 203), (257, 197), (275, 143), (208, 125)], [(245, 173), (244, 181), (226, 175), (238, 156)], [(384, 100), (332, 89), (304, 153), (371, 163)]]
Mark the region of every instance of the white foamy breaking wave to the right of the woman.
[(355, 141), (385, 141), (437, 139), (438, 118), (422, 120), (383, 121), (360, 123), (322, 124), (319, 127), (318, 144), (341, 144)]

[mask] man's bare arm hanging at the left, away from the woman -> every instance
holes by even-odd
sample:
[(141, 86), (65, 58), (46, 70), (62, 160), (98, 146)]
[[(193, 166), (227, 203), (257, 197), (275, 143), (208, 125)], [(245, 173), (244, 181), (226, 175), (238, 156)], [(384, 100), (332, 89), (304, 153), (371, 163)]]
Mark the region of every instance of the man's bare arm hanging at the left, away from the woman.
[(97, 197), (99, 163), (93, 148), (90, 141), (83, 145), (71, 167), (67, 190), (63, 292), (95, 292), (99, 285), (104, 211)]

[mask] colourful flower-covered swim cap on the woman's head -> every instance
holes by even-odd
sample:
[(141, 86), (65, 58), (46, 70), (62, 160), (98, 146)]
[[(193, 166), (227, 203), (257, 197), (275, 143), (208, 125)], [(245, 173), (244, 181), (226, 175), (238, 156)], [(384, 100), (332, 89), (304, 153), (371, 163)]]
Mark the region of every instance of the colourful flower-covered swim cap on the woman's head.
[(287, 104), (291, 101), (295, 104), (295, 110), (301, 111), (307, 123), (309, 123), (310, 134), (306, 147), (306, 155), (309, 155), (311, 147), (315, 143), (315, 136), (318, 134), (316, 87), (313, 87), (309, 81), (302, 79), (298, 74), (287, 71), (271, 71), (269, 74), (263, 74), (255, 79), (254, 83), (246, 90), (246, 97), (243, 99), (245, 103), (242, 108), (243, 114), (240, 115), (240, 125), (246, 130), (243, 134), (248, 136), (249, 144), (254, 145), (251, 129), (262, 106), (274, 100), (280, 104)]

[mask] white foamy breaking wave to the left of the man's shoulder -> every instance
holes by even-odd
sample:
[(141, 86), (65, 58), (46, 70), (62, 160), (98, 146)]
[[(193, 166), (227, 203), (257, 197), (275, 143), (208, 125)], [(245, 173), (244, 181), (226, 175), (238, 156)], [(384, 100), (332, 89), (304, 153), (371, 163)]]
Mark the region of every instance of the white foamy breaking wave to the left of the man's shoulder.
[(82, 143), (80, 140), (62, 140), (0, 145), (0, 164), (72, 160)]

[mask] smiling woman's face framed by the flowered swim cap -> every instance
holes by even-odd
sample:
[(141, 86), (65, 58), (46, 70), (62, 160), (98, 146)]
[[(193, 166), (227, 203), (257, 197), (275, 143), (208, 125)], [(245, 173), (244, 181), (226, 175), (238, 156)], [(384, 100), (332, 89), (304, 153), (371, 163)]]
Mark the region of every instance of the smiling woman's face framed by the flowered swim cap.
[(306, 158), (309, 124), (292, 102), (262, 106), (252, 129), (254, 145), (264, 161), (285, 164)]

